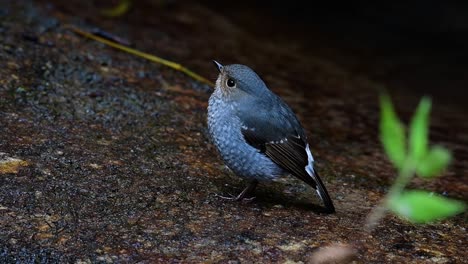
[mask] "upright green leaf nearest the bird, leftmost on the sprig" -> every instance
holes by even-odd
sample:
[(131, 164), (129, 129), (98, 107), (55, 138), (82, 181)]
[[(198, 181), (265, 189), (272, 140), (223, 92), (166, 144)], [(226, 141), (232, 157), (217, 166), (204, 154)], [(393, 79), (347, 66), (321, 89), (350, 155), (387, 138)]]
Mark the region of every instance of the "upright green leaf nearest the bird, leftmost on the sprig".
[(390, 161), (401, 169), (406, 157), (405, 129), (388, 95), (380, 97), (380, 140)]

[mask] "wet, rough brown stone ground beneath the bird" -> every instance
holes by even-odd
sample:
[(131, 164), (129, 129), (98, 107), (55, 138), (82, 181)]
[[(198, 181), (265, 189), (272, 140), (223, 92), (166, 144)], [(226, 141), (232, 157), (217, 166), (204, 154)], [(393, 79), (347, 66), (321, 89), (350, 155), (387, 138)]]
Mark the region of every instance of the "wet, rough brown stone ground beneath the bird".
[[(250, 31), (206, 6), (134, 2), (111, 19), (101, 2), (2, 1), (0, 158), (21, 162), (0, 167), (0, 262), (307, 263), (343, 243), (357, 263), (466, 263), (466, 214), (425, 226), (387, 216), (363, 231), (395, 175), (377, 134), (378, 88), (395, 84), (391, 75), (372, 81), (339, 66), (357, 64), (319, 32), (307, 33), (317, 34), (308, 46), (294, 32), (256, 34), (261, 19)], [(217, 198), (245, 182), (207, 138), (210, 88), (66, 24), (99, 27), (212, 80), (211, 59), (250, 65), (309, 132), (337, 213), (320, 214), (313, 191), (292, 178), (261, 185), (251, 203)], [(391, 91), (408, 120), (420, 94), (401, 83)], [(466, 114), (434, 98), (431, 140), (455, 162), (412, 187), (467, 200)]]

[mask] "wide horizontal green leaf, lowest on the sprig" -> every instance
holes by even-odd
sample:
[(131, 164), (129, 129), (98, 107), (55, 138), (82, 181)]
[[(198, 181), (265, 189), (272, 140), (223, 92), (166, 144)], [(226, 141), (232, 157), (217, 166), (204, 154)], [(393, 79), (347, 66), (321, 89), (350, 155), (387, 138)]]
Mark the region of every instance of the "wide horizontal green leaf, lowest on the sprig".
[(418, 224), (441, 220), (465, 210), (463, 202), (417, 190), (391, 197), (388, 207), (398, 216)]

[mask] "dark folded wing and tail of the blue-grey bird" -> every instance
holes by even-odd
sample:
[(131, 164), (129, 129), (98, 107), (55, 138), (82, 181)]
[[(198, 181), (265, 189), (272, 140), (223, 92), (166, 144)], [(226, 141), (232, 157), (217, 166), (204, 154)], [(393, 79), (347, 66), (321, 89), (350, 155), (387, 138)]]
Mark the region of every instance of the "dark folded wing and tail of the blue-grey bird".
[(282, 101), (257, 111), (241, 113), (242, 134), (251, 146), (281, 168), (317, 190), (325, 207), (335, 208), (325, 185), (313, 168), (305, 133), (292, 110)]

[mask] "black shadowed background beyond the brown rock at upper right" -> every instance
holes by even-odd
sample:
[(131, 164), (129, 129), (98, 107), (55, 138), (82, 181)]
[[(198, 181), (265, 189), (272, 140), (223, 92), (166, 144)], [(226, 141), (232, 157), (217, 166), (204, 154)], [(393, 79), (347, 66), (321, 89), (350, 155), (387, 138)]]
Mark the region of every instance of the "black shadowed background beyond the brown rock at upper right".
[[(465, 106), (463, 1), (201, 1), (264, 37), (320, 47), (356, 74)], [(313, 32), (313, 34), (310, 34)], [(327, 47), (328, 49), (324, 49)]]

